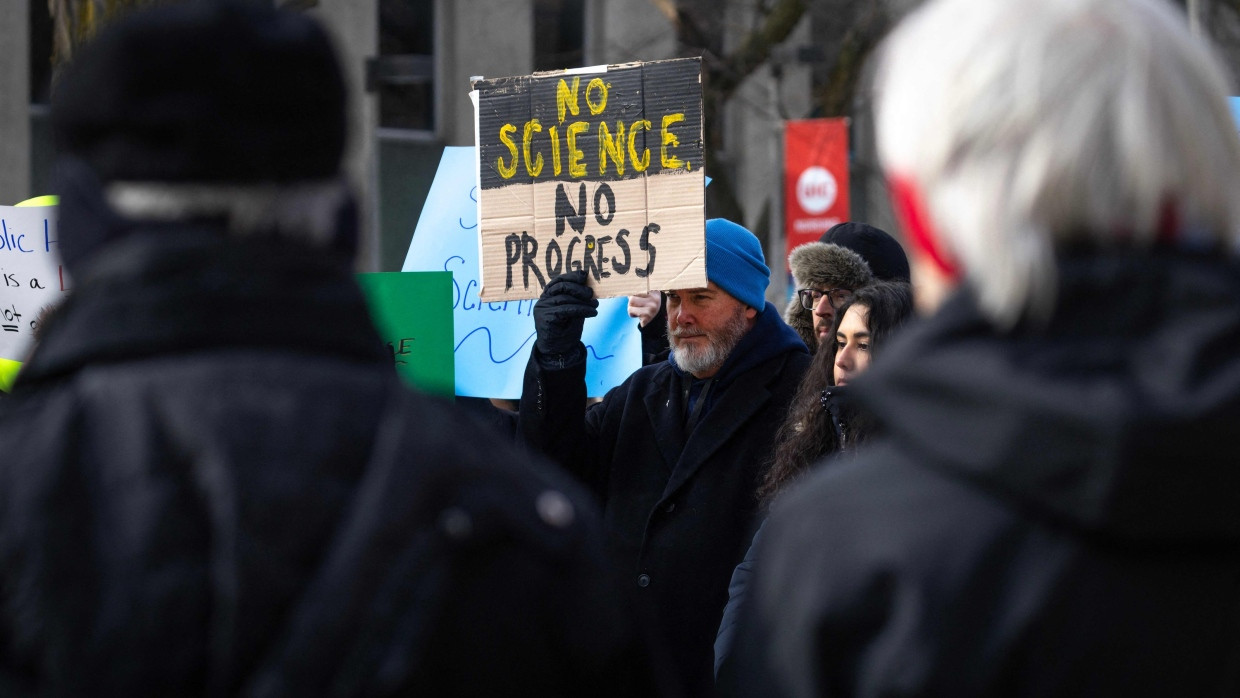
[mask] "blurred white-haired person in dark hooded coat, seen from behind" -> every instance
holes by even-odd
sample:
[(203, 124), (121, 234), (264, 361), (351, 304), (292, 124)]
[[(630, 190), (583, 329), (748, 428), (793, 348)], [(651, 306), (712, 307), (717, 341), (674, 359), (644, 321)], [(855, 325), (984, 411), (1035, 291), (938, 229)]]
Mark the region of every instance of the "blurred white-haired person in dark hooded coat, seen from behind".
[(932, 0), (877, 73), (919, 310), (776, 502), (760, 696), (1240, 696), (1240, 139), (1162, 0)]

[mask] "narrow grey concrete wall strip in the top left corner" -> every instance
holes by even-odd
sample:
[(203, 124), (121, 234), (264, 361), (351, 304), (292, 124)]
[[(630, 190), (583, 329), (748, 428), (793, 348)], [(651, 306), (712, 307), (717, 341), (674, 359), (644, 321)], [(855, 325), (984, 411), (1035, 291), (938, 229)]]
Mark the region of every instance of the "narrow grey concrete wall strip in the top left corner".
[(6, 1), (0, 21), (0, 205), (30, 198), (30, 5)]

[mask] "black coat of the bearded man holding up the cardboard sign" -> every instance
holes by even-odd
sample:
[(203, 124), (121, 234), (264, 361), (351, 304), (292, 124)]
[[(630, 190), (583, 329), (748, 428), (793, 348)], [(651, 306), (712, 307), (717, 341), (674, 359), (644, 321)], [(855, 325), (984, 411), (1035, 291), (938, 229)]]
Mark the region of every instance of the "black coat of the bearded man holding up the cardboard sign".
[(546, 368), (534, 350), (521, 399), (525, 438), (603, 502), (620, 583), (657, 619), (691, 694), (712, 692), (728, 580), (753, 534), (755, 490), (775, 430), (810, 362), (766, 304), (684, 433), (683, 377), (646, 366), (585, 410), (584, 360)]

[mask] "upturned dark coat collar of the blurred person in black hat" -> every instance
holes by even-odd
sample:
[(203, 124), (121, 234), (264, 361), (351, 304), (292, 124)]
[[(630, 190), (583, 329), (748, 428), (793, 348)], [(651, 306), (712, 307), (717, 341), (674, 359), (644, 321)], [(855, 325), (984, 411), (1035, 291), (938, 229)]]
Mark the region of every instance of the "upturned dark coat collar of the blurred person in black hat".
[(224, 347), (388, 358), (347, 264), (295, 243), (165, 229), (118, 241), (81, 272), (15, 391), (87, 364)]

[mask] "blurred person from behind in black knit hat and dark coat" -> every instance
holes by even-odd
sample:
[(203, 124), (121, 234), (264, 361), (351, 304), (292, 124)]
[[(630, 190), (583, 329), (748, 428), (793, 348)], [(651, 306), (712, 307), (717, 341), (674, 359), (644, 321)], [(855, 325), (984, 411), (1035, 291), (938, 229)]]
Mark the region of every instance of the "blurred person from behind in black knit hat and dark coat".
[(0, 408), (0, 693), (653, 691), (589, 502), (397, 378), (317, 24), (138, 11), (52, 123), (74, 290)]

